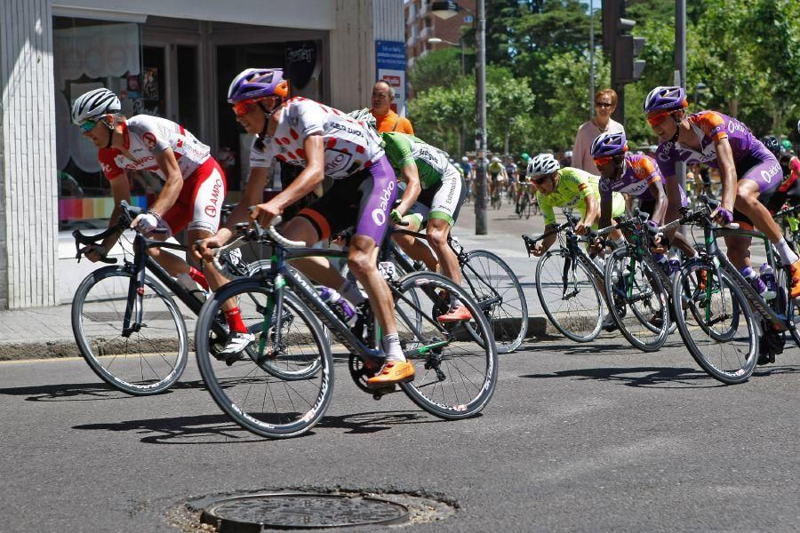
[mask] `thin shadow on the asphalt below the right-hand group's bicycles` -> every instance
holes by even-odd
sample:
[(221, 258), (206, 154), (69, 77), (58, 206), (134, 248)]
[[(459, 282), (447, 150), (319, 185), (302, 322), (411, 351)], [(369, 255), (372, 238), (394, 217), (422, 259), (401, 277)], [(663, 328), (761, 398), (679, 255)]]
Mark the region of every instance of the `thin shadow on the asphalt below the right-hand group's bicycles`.
[[(644, 376), (641, 374), (645, 374)], [(626, 386), (650, 388), (709, 388), (724, 384), (699, 369), (664, 367), (609, 367), (559, 370), (550, 374), (526, 374), (520, 378), (580, 378), (619, 381)]]

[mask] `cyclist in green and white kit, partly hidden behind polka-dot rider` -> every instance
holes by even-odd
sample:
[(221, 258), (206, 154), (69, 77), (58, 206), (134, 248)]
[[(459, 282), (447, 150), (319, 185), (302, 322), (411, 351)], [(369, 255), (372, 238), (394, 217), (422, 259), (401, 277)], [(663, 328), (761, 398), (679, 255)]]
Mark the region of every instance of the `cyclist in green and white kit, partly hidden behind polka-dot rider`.
[[(392, 131), (381, 133), (381, 137), (389, 163), (397, 178), (405, 184), (400, 204), (391, 212), (392, 220), (408, 223), (407, 229), (412, 231), (427, 223), (425, 233), (436, 257), (428, 246), (412, 235), (396, 233), (392, 238), (405, 253), (412, 259), (423, 261), (428, 269), (436, 272), (441, 264), (443, 274), (460, 285), (459, 261), (447, 244), (450, 229), (467, 196), (460, 172), (449, 162), (446, 152), (412, 135)], [(472, 317), (458, 298), (454, 295), (451, 298), (450, 312), (440, 316), (439, 322), (457, 322)]]

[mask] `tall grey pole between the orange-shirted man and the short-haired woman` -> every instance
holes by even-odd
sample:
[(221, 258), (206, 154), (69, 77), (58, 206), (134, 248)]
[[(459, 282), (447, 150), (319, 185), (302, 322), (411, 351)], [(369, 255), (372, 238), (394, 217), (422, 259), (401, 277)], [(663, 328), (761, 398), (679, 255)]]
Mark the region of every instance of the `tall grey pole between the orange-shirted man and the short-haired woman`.
[(476, 198), (475, 235), (486, 235), (486, 12), (484, 0), (477, 0), (476, 35)]

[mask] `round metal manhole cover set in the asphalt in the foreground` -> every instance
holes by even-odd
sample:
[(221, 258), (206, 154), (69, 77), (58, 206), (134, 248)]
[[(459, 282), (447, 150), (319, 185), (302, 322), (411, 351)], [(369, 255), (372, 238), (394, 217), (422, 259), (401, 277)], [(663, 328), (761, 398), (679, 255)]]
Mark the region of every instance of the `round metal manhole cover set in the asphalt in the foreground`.
[[(440, 521), (452, 515), (455, 507), (421, 493), (303, 488), (206, 497), (188, 502), (185, 509), (200, 522), (196, 524), (200, 530), (261, 533)], [(187, 525), (184, 522), (181, 529), (197, 530)]]

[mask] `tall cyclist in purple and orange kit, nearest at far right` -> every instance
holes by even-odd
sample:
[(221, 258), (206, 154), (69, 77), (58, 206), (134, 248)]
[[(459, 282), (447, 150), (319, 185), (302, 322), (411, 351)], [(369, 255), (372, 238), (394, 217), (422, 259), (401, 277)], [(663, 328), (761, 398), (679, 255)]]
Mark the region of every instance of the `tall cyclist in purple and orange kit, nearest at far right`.
[[(655, 159), (669, 182), (676, 179), (675, 165), (703, 163), (719, 169), (722, 204), (712, 213), (716, 222), (727, 226), (758, 228), (769, 238), (788, 265), (792, 298), (800, 296), (800, 261), (781, 235), (765, 203), (780, 186), (780, 163), (738, 120), (717, 113), (686, 112), (688, 102), (681, 87), (656, 87), (644, 99), (644, 113), (660, 145)], [(748, 279), (756, 282), (750, 265), (750, 239), (726, 236), (728, 258)]]

